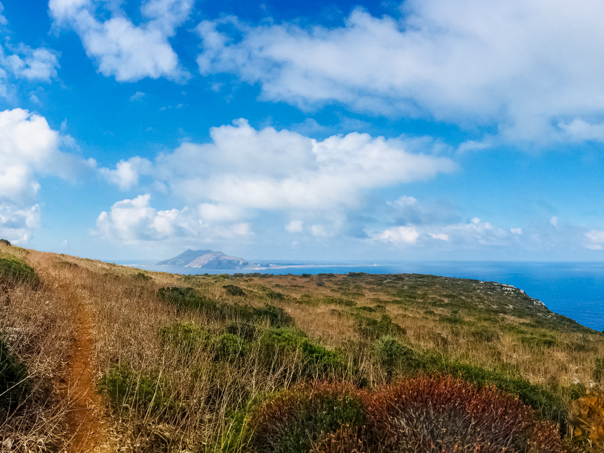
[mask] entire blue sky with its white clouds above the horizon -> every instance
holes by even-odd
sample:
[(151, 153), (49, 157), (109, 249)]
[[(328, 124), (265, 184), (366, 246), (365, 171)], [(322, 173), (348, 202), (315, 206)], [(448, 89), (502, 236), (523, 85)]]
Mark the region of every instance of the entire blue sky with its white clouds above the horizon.
[(600, 2), (2, 2), (0, 237), (602, 260)]

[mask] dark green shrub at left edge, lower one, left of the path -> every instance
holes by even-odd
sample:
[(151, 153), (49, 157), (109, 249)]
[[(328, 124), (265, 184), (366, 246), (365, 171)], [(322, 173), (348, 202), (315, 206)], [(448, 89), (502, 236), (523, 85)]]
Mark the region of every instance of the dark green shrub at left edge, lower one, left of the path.
[(30, 391), (27, 368), (0, 338), (0, 414), (14, 410)]

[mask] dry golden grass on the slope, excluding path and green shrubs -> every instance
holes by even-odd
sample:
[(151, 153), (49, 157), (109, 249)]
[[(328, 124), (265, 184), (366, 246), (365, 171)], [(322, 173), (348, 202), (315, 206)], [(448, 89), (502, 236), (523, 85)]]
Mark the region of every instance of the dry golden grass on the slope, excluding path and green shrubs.
[[(157, 289), (169, 286), (190, 286), (225, 303), (281, 307), (313, 341), (339, 350), (349, 369), (358, 367), (370, 386), (383, 384), (390, 376), (374, 358), (373, 341), (359, 335), (359, 318), (354, 313), (375, 320), (390, 316), (405, 330), (404, 341), (413, 349), (429, 350), (477, 367), (507, 367), (533, 384), (568, 386), (580, 382), (596, 388), (601, 384), (594, 381), (596, 359), (604, 357), (604, 337), (600, 333), (561, 329), (552, 334), (556, 345), (522, 344), (517, 332), (503, 328), (531, 331), (521, 324), (527, 319), (512, 311), (497, 315), (496, 322), (488, 324), (489, 329), (496, 329), (494, 341), (481, 341), (471, 334), (472, 326), (482, 325), (478, 315), (473, 314), (467, 324), (443, 322), (441, 316), (453, 313), (456, 303), (439, 294), (438, 288), (418, 290), (425, 302), (398, 303), (397, 297), (387, 291), (388, 285), (394, 284), (388, 279), (376, 283), (371, 278), (355, 280), (345, 275), (184, 277), (144, 272), (151, 277), (144, 281), (134, 278), (138, 269), (94, 260), (0, 245), (2, 254), (25, 260), (43, 281), (38, 291), (18, 286), (0, 294), (0, 326), (22, 329), (11, 348), (36, 382), (26, 410), (0, 422), (0, 440), (10, 438), (16, 451), (59, 451), (65, 443), (70, 389), (60, 381), (72, 352), (82, 303), (88, 307), (94, 326), (97, 382), (123, 365), (134, 376), (134, 394), (150, 376), (155, 393), (164, 392), (170, 402), (170, 409), (162, 411), (132, 403), (127, 396), (121, 401), (105, 399), (111, 435), (119, 451), (204, 451), (204, 446), (216, 446), (224, 439), (234, 411), (256, 396), (286, 388), (295, 381), (303, 366), (302, 359), (295, 356), (287, 362), (275, 358), (267, 365), (262, 352), (252, 349), (245, 362), (216, 362), (207, 350), (184, 353), (178, 345), (162, 343), (159, 330), (176, 321), (212, 332), (237, 321), (170, 306), (156, 294)], [(246, 295), (230, 296), (224, 284), (236, 284)], [(283, 298), (271, 297), (266, 288)], [(304, 295), (310, 295), (311, 301)], [(356, 307), (318, 301), (328, 297), (352, 300)], [(431, 303), (436, 297), (442, 302), (438, 306)], [(483, 296), (487, 301), (489, 297)], [(375, 306), (383, 309), (368, 312), (358, 308)], [(428, 309), (435, 314), (424, 313)], [(266, 327), (260, 325), (259, 329)]]

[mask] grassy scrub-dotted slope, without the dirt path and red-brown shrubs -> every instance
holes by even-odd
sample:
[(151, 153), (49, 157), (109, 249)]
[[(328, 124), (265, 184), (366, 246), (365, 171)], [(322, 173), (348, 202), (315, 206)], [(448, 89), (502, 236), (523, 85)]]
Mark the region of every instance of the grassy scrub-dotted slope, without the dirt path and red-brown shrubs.
[[(11, 350), (45, 394), (56, 395), (45, 410), (60, 413), (54, 383), (79, 297), (94, 316), (98, 382), (126, 451), (202, 451), (220, 439), (245, 449), (225, 437), (240, 423), (237, 411), (313, 376), (374, 387), (398, 374), (449, 371), (502, 387), (530, 383), (561, 405), (581, 385), (600, 385), (602, 334), (498, 283), (418, 274), (182, 276), (0, 245), (0, 257), (8, 254), (42, 280), (37, 291), (7, 290), (0, 325), (24, 329), (27, 345), (18, 339)], [(193, 288), (191, 298), (158, 296), (175, 286)], [(57, 307), (52, 315), (31, 309), (47, 298)], [(201, 309), (187, 307), (191, 301)], [(237, 308), (265, 304), (283, 309), (295, 327)], [(23, 418), (0, 425), (0, 439), (27, 431)], [(27, 429), (53, 439), (60, 420), (53, 426)]]

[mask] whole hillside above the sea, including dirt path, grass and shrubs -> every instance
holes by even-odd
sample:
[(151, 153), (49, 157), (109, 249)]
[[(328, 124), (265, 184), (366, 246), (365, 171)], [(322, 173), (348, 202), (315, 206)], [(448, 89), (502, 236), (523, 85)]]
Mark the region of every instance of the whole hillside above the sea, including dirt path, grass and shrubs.
[[(422, 429), (443, 451), (475, 451), (484, 432), (506, 451), (591, 448), (571, 445), (567, 419), (604, 383), (604, 336), (504, 284), (185, 276), (0, 244), (0, 289), (14, 451), (428, 451)], [(395, 439), (396, 398), (416, 409)], [(445, 431), (420, 416), (440, 398)]]

